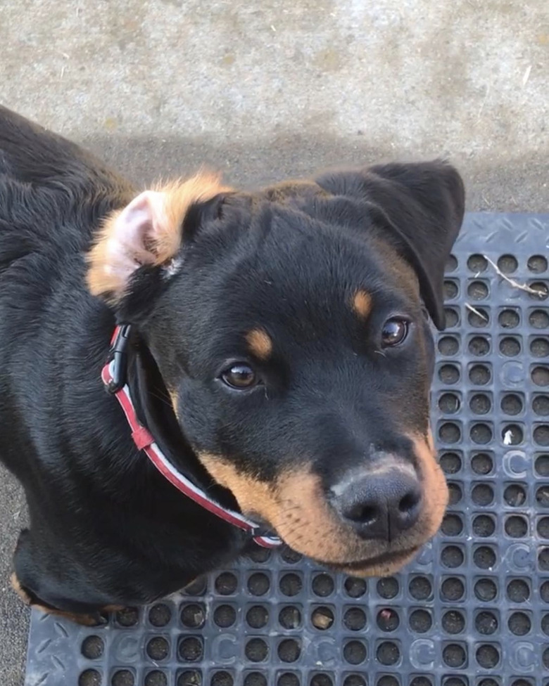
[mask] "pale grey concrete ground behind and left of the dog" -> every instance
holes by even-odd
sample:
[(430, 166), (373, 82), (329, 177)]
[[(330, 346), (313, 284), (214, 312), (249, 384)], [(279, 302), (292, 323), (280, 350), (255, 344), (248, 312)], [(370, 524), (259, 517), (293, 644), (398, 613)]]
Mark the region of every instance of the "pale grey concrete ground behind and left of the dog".
[[(548, 211), (545, 0), (1, 0), (0, 101), (132, 179), (203, 162), (232, 183), (447, 155), (474, 210)], [(0, 427), (1, 432), (1, 427)], [(25, 520), (0, 472), (0, 665)]]

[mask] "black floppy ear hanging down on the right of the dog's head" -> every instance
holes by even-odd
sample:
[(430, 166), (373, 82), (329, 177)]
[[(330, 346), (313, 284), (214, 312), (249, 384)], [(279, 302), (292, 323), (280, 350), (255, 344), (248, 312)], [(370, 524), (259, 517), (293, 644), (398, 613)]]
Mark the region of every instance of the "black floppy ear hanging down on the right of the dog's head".
[(460, 174), (446, 162), (384, 164), (324, 174), (317, 183), (334, 195), (365, 202), (374, 224), (412, 264), (425, 305), (439, 330), (445, 326), (444, 267), (465, 211)]

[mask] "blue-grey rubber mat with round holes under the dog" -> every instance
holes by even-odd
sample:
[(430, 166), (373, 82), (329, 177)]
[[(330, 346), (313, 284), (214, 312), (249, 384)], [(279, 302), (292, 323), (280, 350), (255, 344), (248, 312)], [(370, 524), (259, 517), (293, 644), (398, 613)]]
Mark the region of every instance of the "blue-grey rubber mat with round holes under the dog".
[(450, 505), (414, 564), (258, 550), (105, 628), (34, 613), (26, 686), (549, 686), (548, 247), (549, 216), (467, 216), (432, 393)]

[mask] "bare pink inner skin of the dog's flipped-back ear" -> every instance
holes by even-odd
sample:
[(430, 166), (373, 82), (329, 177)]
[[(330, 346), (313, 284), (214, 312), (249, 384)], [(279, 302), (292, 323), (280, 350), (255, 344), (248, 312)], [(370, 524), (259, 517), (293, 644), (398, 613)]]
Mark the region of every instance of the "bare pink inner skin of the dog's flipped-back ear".
[(125, 282), (139, 266), (153, 264), (154, 245), (166, 224), (163, 193), (145, 190), (134, 198), (115, 219), (107, 243), (106, 270)]

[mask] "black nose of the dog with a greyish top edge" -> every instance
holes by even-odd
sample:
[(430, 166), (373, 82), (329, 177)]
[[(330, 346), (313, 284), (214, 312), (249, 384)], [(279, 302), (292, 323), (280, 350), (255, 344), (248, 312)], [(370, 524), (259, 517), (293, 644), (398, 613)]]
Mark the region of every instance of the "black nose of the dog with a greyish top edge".
[(361, 538), (391, 541), (417, 522), (421, 510), (419, 481), (405, 468), (362, 474), (332, 492), (334, 507)]

